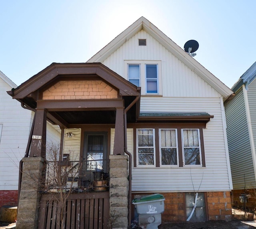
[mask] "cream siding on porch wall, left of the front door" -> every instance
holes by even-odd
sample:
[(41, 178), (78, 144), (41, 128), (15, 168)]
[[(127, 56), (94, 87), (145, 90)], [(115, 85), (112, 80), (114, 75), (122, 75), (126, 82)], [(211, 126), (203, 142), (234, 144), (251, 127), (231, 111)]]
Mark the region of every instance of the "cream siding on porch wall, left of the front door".
[[(72, 132), (73, 137), (66, 137), (66, 133)], [(65, 129), (64, 132), (64, 143), (63, 143), (63, 154), (70, 154), (71, 161), (80, 160), (80, 146), (81, 146), (81, 128)]]

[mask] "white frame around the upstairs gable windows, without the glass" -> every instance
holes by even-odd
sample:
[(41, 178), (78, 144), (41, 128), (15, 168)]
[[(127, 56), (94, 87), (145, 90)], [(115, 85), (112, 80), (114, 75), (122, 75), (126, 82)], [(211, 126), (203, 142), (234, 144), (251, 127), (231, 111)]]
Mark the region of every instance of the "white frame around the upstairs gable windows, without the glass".
[[(141, 95), (162, 96), (162, 62), (152, 60), (124, 60), (124, 77), (129, 81), (128, 65), (140, 65), (140, 87)], [(146, 93), (146, 65), (157, 65), (157, 86), (158, 93)]]

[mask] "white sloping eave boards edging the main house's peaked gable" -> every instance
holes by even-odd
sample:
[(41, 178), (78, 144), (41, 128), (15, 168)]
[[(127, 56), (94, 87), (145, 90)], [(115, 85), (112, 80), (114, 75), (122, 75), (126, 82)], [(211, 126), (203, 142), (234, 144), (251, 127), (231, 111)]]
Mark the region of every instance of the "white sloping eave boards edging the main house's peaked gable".
[(158, 40), (166, 49), (173, 53), (178, 59), (192, 69), (192, 71), (198, 74), (204, 81), (218, 91), (224, 97), (224, 100), (228, 99), (228, 97), (233, 94), (233, 92), (226, 85), (224, 85), (224, 83), (212, 75), (212, 73), (205, 69), (200, 63), (198, 63), (198, 61), (186, 53), (181, 47), (174, 43), (144, 17), (139, 18), (116, 38), (110, 41), (110, 43), (108, 43), (103, 49), (92, 56), (87, 62), (103, 62), (111, 53), (113, 53), (140, 30), (145, 30), (153, 38)]

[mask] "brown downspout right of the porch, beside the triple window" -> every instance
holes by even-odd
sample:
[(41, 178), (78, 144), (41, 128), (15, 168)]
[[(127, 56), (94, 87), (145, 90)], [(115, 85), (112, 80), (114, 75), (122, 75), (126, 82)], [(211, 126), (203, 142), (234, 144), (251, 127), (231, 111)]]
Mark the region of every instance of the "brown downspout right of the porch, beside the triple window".
[(137, 96), (132, 103), (126, 109), (124, 109), (124, 152), (128, 154), (129, 157), (129, 190), (128, 190), (128, 209), (129, 209), (129, 219), (128, 225), (129, 228), (132, 222), (132, 214), (131, 214), (131, 201), (132, 201), (132, 154), (127, 150), (127, 118), (126, 113), (131, 109), (131, 107), (140, 99), (140, 96)]

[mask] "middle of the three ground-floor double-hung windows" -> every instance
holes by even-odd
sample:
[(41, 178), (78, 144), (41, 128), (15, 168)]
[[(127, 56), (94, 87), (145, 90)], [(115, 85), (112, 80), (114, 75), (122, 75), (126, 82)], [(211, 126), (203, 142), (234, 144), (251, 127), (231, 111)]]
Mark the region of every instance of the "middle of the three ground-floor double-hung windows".
[(176, 129), (160, 129), (160, 166), (178, 166)]

